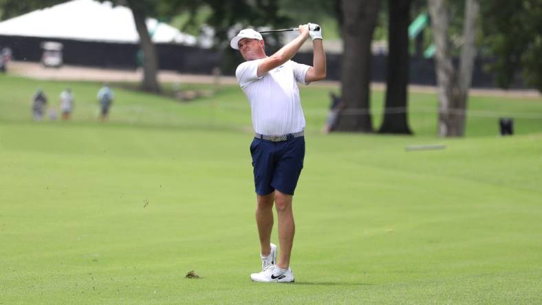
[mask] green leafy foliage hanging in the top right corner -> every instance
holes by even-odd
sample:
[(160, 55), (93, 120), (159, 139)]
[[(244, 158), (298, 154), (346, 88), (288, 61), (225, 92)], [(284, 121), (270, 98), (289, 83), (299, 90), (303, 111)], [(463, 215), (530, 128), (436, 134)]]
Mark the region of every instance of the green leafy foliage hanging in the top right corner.
[(481, 15), (499, 87), (508, 88), (521, 69), (525, 83), (542, 92), (542, 0), (482, 0)]

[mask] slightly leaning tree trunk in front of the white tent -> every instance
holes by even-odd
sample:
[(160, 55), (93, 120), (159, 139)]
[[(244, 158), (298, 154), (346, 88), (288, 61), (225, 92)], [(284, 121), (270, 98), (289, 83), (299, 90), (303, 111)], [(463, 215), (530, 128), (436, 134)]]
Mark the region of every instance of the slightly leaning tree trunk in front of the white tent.
[(158, 84), (158, 56), (156, 47), (151, 41), (149, 30), (147, 29), (146, 16), (144, 10), (138, 7), (138, 2), (128, 0), (128, 5), (133, 14), (135, 29), (138, 30), (140, 37), (140, 47), (143, 50), (143, 81), (141, 87), (144, 91), (160, 92)]

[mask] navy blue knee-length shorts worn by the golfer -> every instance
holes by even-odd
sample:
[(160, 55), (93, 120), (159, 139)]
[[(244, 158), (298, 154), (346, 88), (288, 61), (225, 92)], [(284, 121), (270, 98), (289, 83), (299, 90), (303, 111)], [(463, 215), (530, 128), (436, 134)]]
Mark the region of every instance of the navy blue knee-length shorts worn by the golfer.
[(294, 194), (305, 158), (305, 137), (283, 142), (254, 138), (250, 155), (257, 194), (266, 195), (274, 190)]

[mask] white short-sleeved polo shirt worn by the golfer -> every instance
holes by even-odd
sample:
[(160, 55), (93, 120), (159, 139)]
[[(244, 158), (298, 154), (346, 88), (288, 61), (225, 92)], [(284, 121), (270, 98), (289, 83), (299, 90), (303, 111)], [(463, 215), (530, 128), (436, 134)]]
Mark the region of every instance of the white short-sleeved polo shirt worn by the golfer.
[(237, 82), (252, 109), (252, 127), (261, 135), (285, 135), (303, 131), (305, 116), (301, 109), (297, 82), (305, 82), (310, 66), (288, 60), (260, 78), (258, 65), (263, 60), (241, 63), (235, 71)]

